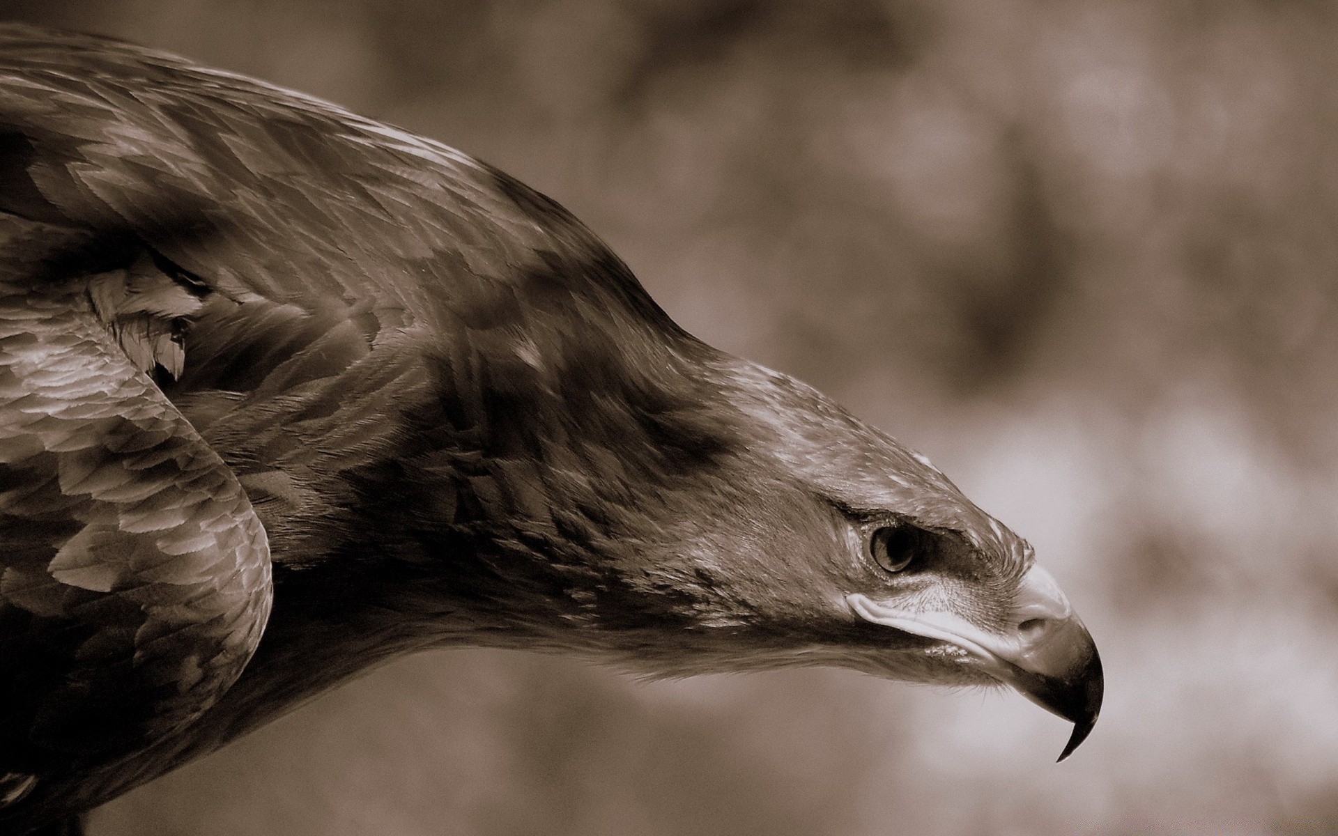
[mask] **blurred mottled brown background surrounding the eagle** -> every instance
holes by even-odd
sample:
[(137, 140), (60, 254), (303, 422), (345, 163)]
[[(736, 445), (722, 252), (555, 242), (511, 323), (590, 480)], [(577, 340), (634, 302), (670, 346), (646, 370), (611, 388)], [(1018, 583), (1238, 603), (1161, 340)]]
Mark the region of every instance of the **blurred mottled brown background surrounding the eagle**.
[(439, 138), (926, 452), (1105, 659), (1090, 740), (843, 671), (440, 651), (95, 836), (1338, 832), (1338, 7), (5, 0)]

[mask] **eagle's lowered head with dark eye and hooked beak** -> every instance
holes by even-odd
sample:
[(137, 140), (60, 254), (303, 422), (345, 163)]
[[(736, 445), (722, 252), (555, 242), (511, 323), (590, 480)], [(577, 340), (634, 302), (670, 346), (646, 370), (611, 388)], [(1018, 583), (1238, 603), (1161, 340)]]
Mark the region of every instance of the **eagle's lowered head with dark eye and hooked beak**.
[(1101, 659), (1032, 546), (811, 387), (737, 361), (725, 377), (753, 433), (741, 472), (768, 498), (765, 522), (736, 519), (714, 551), (733, 560), (727, 586), (763, 603), (739, 610), (784, 613), (771, 627), (808, 637), (797, 661), (1012, 686), (1074, 724), (1068, 757), (1100, 712)]

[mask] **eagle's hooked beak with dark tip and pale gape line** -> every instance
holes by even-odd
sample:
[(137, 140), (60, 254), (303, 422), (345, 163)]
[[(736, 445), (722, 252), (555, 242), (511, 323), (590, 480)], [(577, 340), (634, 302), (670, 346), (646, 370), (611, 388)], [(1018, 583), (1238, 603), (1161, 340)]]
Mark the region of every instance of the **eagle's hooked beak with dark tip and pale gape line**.
[(991, 677), (1070, 721), (1073, 734), (1061, 761), (1096, 725), (1104, 689), (1101, 657), (1058, 583), (1040, 566), (1033, 564), (1022, 578), (1016, 627), (1006, 634), (987, 633), (953, 613), (914, 613), (858, 593), (846, 601), (864, 621), (961, 647)]

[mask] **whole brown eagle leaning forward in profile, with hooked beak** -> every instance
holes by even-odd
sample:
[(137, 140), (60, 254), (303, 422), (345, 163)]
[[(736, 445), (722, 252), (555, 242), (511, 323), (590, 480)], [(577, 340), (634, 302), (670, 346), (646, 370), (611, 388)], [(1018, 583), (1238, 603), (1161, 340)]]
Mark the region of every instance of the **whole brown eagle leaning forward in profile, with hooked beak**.
[(368, 666), (523, 647), (838, 665), (1073, 721), (1032, 548), (809, 387), (681, 330), (562, 207), (438, 142), (0, 25), (0, 832)]

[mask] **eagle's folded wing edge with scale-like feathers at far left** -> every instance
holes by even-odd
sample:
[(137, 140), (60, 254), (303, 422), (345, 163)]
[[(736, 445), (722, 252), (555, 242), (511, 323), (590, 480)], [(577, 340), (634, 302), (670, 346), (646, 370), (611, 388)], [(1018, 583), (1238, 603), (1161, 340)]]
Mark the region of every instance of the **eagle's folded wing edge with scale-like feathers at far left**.
[[(0, 805), (191, 722), (270, 609), (246, 494), (142, 368), (173, 362), (154, 308), (189, 293), (52, 276), (83, 238), (0, 214)], [(104, 321), (127, 286), (150, 309)]]

